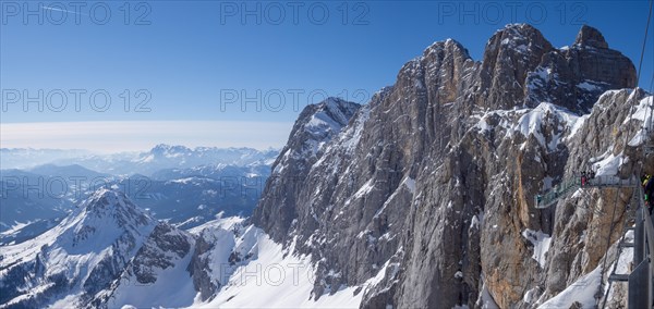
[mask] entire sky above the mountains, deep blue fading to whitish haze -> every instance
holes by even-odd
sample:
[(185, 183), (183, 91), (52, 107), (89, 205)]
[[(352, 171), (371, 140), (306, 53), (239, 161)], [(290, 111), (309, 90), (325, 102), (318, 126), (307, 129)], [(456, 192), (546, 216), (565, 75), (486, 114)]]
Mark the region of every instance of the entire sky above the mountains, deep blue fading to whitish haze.
[[(306, 103), (325, 95), (365, 102), (433, 41), (453, 38), (480, 60), (486, 40), (509, 23), (534, 24), (556, 47), (572, 44), (581, 25), (589, 24), (638, 65), (649, 9), (647, 1), (74, 3), (2, 1), (2, 147), (117, 151), (161, 141), (281, 147)], [(43, 23), (26, 9), (36, 10)], [(653, 26), (640, 83), (645, 88), (654, 72)], [(65, 108), (60, 107), (62, 92)], [(44, 111), (38, 102), (24, 111), (25, 94), (37, 97)], [(114, 128), (104, 135), (123, 136), (125, 146), (96, 145), (52, 129), (52, 123), (85, 129), (71, 122), (111, 124)], [(140, 129), (134, 122), (142, 123), (143, 132), (154, 122), (171, 125), (159, 134), (133, 134)], [(217, 131), (215, 138), (179, 134), (198, 123), (207, 124), (198, 131)], [(237, 128), (218, 128), (226, 124)], [(271, 132), (251, 136), (258, 125)], [(16, 134), (25, 127), (33, 137)]]

